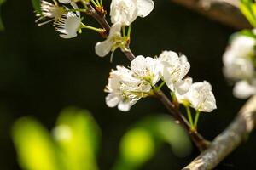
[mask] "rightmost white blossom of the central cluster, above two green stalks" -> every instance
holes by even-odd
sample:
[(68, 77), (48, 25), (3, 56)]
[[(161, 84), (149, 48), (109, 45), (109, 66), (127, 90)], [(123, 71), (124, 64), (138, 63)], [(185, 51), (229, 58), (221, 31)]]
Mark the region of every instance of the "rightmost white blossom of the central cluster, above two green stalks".
[(211, 112), (217, 109), (216, 100), (209, 82), (195, 82), (189, 91), (183, 95), (176, 95), (179, 103), (189, 103), (197, 111)]

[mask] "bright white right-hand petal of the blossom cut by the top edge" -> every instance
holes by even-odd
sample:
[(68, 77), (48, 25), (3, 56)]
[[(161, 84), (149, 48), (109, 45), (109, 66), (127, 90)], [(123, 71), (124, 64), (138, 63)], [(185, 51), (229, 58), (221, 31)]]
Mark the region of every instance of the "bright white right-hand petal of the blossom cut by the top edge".
[(140, 17), (148, 16), (154, 9), (154, 2), (152, 0), (137, 0), (137, 15)]

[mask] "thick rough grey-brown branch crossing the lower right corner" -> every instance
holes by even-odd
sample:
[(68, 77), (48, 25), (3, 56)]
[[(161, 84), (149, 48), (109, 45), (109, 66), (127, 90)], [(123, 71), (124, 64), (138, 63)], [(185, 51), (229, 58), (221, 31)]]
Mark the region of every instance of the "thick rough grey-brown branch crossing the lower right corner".
[(220, 133), (210, 147), (183, 170), (212, 169), (224, 160), (253, 131), (256, 122), (256, 95), (241, 108), (235, 120)]

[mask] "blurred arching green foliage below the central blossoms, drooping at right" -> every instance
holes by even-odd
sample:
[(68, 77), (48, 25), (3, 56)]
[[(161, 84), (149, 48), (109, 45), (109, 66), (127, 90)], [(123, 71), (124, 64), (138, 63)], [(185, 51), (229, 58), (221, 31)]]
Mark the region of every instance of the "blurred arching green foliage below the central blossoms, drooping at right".
[(148, 116), (121, 139), (119, 159), (113, 170), (138, 169), (153, 158), (164, 143), (171, 145), (176, 156), (187, 156), (191, 150), (188, 135), (171, 116)]

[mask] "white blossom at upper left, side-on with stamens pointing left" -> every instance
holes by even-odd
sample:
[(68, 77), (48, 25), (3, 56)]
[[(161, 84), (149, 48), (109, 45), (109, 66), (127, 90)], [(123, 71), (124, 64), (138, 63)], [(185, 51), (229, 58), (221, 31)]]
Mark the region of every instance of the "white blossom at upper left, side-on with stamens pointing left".
[(73, 38), (77, 37), (77, 32), (81, 25), (81, 19), (79, 16), (73, 12), (68, 12), (65, 17), (62, 17), (62, 20), (55, 22), (55, 29), (61, 32), (62, 38)]

